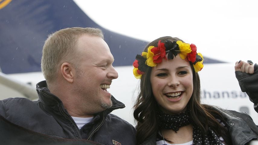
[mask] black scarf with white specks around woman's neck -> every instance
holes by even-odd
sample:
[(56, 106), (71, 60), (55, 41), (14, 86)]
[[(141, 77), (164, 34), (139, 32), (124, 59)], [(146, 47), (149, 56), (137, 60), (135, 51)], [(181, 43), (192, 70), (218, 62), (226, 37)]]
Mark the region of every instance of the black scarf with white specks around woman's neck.
[(200, 128), (192, 121), (190, 111), (169, 115), (162, 111), (157, 111), (158, 125), (161, 129), (172, 129), (175, 132), (180, 127), (193, 124), (193, 145), (222, 145), (216, 133), (209, 128), (208, 134), (203, 134)]

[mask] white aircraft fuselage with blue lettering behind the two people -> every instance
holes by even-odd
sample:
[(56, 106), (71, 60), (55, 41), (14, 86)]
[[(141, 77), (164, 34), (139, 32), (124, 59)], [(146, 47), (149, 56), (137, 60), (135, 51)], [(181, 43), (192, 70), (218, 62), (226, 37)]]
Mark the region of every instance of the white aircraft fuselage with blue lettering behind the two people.
[[(112, 113), (118, 115), (129, 123), (135, 125), (133, 117), (134, 101), (138, 95), (139, 79), (134, 78), (132, 73), (133, 66), (115, 67), (118, 72), (118, 79), (114, 79), (109, 92), (119, 101), (125, 104), (125, 108), (114, 110)], [(258, 124), (258, 114), (253, 109), (253, 103), (249, 100), (246, 93), (241, 92), (237, 79), (234, 74), (233, 63), (206, 64), (199, 72), (201, 79), (202, 103), (220, 106), (221, 108), (245, 111)], [(33, 100), (37, 100), (36, 84), (44, 80), (41, 72), (29, 72), (20, 74), (10, 74), (8, 79), (21, 85), (33, 88)], [(1, 79), (0, 79), (1, 82)], [(7, 87), (6, 82), (1, 82), (1, 98), (27, 97), (18, 92), (20, 87)], [(30, 85), (29, 85), (30, 84)], [(31, 93), (33, 95), (33, 93)]]

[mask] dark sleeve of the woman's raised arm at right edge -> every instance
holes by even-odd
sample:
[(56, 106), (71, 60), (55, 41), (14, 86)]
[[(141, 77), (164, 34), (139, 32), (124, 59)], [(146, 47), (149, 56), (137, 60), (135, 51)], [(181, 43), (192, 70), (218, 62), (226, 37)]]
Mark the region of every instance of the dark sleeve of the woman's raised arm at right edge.
[(258, 113), (258, 65), (254, 65), (253, 74), (240, 71), (236, 71), (235, 74), (241, 91), (247, 93), (250, 101), (254, 103), (254, 110)]

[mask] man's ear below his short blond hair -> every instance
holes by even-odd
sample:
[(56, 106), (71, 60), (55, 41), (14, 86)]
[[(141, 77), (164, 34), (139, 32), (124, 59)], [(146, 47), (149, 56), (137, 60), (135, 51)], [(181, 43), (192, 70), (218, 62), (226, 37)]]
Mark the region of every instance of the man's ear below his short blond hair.
[(70, 63), (63, 63), (61, 66), (61, 73), (63, 78), (70, 83), (73, 83), (75, 68)]

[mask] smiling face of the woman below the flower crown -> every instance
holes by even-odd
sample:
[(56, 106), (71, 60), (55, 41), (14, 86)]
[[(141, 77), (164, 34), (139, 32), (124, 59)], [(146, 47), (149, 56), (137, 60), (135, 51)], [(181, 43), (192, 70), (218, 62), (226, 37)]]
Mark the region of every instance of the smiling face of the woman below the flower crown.
[(193, 92), (193, 73), (188, 60), (182, 60), (179, 55), (173, 60), (163, 59), (152, 67), (150, 82), (163, 112), (178, 114), (186, 110)]

